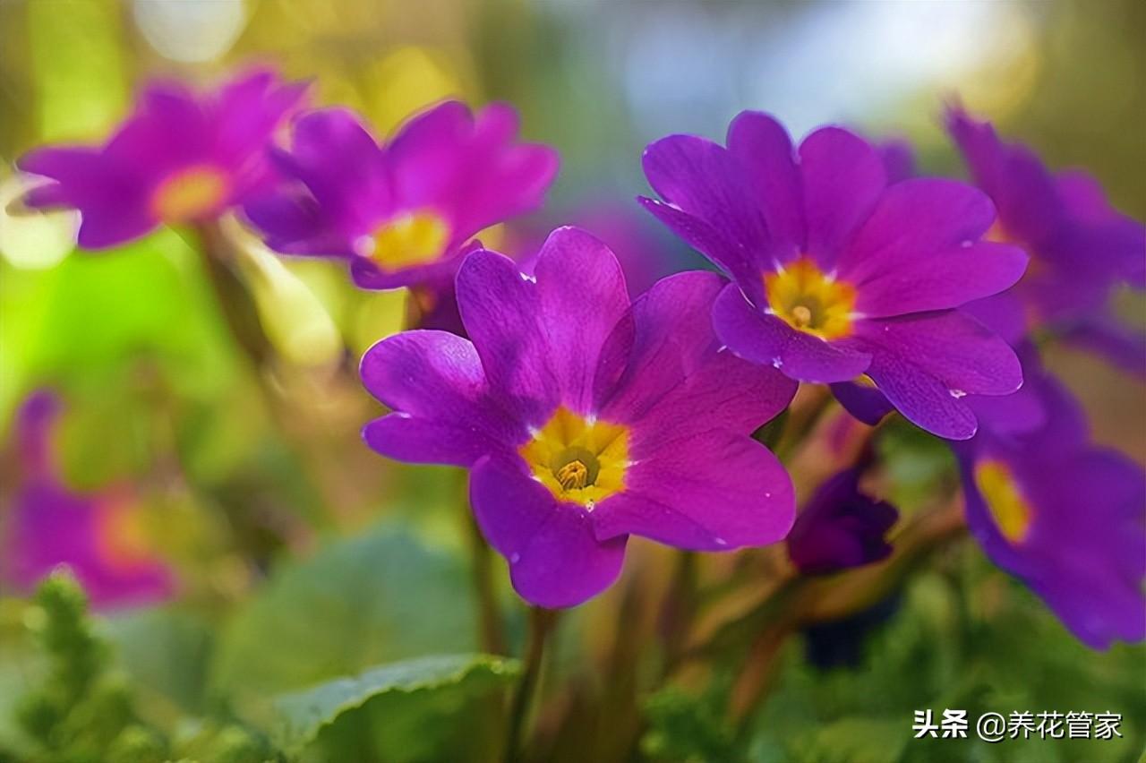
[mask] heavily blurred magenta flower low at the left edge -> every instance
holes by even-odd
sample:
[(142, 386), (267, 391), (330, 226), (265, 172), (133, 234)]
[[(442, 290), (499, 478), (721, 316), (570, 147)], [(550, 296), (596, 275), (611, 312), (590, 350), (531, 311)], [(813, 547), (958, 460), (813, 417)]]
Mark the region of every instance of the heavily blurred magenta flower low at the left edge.
[(7, 518), (5, 579), (29, 591), (66, 565), (97, 607), (171, 598), (174, 575), (154, 553), (132, 490), (81, 494), (60, 480), (49, 442), (58, 412), (58, 400), (40, 391), (16, 416), (14, 446), (23, 474)]

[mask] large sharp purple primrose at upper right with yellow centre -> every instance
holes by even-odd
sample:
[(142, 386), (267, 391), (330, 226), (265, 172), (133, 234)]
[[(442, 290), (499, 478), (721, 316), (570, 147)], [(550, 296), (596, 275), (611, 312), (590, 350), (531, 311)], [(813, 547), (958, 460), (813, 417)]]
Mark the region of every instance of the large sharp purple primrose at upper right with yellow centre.
[(975, 432), (968, 394), (1022, 383), (1012, 349), (955, 309), (1003, 291), (1027, 257), (981, 241), (990, 199), (964, 183), (887, 183), (861, 137), (823, 127), (794, 150), (771, 117), (744, 112), (728, 148), (670, 135), (644, 155), (665, 199), (642, 203), (724, 268), (721, 341), (801, 382), (865, 375), (900, 412), (951, 439)]

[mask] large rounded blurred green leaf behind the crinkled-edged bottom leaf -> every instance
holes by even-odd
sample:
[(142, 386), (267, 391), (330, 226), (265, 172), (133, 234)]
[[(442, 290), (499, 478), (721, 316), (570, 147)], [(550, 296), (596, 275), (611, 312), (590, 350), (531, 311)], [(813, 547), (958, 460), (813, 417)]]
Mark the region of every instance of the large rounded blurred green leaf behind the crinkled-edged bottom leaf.
[(276, 571), (230, 623), (213, 684), (283, 692), (394, 660), (473, 651), (465, 572), (406, 530), (331, 543)]

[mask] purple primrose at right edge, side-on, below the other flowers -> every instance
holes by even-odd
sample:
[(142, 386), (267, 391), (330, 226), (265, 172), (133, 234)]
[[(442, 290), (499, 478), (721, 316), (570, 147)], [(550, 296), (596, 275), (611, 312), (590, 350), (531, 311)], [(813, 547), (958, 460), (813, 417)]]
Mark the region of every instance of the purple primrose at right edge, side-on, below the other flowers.
[(1090, 445), (1078, 403), (1035, 363), (1025, 368), (1042, 425), (980, 411), (979, 434), (956, 447), (971, 532), (1083, 643), (1141, 640), (1146, 474)]

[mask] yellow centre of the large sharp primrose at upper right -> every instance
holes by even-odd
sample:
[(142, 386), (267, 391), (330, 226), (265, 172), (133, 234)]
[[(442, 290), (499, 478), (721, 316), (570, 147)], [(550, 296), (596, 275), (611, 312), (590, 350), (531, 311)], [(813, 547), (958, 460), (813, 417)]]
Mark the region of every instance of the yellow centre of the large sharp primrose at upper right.
[(776, 273), (764, 274), (769, 312), (793, 329), (821, 339), (851, 333), (856, 290), (801, 258)]

